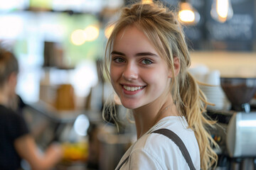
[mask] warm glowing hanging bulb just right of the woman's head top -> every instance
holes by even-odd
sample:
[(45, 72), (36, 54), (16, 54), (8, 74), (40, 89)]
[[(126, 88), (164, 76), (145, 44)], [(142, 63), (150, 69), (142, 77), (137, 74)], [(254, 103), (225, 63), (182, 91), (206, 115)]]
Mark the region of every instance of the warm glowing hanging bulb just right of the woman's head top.
[(200, 14), (187, 0), (181, 0), (179, 4), (178, 18), (186, 25), (196, 25), (200, 21)]

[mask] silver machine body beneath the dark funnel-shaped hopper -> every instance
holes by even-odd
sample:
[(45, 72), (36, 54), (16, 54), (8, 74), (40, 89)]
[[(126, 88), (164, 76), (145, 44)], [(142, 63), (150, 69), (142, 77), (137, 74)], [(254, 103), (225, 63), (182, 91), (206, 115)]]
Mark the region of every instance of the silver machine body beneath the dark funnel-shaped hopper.
[(217, 120), (210, 134), (218, 143), (216, 170), (256, 170), (256, 112), (208, 111)]

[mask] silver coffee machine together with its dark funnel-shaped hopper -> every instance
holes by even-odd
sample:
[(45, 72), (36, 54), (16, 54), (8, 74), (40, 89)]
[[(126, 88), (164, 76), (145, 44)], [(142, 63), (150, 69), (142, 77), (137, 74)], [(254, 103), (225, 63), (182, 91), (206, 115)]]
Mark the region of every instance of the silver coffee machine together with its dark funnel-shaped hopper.
[(256, 170), (256, 107), (250, 101), (256, 93), (256, 78), (220, 78), (231, 103), (230, 111), (207, 111), (217, 121), (210, 129), (219, 148), (218, 170)]

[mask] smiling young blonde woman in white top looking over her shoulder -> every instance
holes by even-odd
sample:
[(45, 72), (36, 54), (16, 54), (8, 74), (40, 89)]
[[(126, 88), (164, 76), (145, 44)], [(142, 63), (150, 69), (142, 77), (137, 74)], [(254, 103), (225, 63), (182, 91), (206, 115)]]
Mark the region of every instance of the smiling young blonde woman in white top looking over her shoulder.
[(114, 91), (137, 129), (137, 142), (117, 169), (189, 169), (178, 145), (154, 132), (159, 129), (178, 135), (195, 169), (215, 165), (215, 142), (205, 128), (213, 122), (204, 117), (206, 98), (187, 72), (191, 58), (173, 12), (161, 4), (123, 8), (105, 60)]

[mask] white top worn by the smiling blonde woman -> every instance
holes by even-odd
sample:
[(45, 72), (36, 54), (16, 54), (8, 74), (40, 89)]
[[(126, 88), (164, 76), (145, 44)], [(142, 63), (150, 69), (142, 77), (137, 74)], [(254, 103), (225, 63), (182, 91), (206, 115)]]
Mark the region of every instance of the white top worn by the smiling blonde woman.
[(180, 116), (169, 116), (159, 120), (127, 150), (119, 164), (122, 164), (128, 156), (129, 159), (122, 165), (121, 169), (189, 169), (181, 150), (172, 140), (164, 135), (151, 133), (161, 128), (169, 129), (181, 138), (188, 149), (194, 166), (196, 169), (200, 169), (198, 142), (193, 130), (187, 129), (187, 127), (186, 119)]

